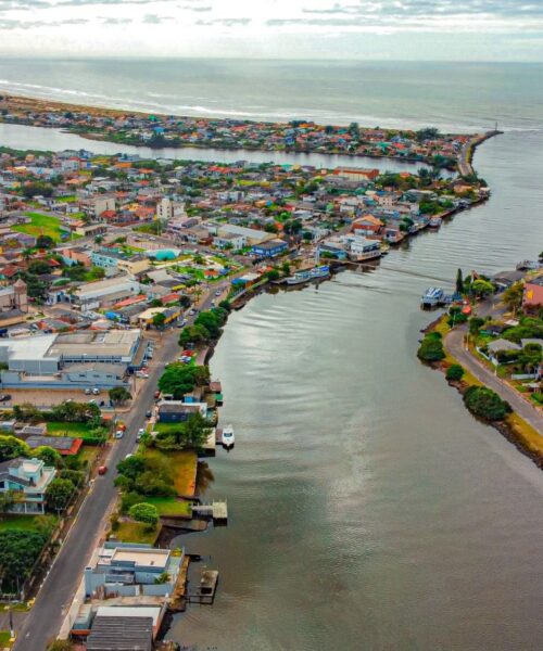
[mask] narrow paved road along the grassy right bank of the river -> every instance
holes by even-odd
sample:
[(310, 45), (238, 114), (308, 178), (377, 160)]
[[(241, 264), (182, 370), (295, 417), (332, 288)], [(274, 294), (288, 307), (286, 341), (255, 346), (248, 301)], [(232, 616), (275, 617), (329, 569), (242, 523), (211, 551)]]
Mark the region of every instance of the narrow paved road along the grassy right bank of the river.
[(541, 411), (522, 398), (503, 380), (494, 375), (494, 373), (476, 359), (469, 350), (464, 348), (464, 337), (466, 333), (467, 329), (465, 327), (452, 330), (445, 336), (445, 349), (478, 380), (495, 391), (502, 399), (507, 400), (521, 418), (543, 435), (543, 414)]

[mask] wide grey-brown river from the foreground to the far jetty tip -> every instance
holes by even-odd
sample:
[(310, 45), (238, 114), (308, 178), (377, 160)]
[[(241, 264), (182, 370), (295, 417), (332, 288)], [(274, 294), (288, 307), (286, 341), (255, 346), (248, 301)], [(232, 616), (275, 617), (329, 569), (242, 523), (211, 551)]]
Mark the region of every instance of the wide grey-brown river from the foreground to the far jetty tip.
[(543, 246), (543, 133), (487, 142), (492, 199), (372, 272), (263, 294), (212, 359), (236, 448), (206, 497), (229, 525), (178, 538), (220, 571), (189, 648), (535, 651), (543, 474), (416, 359), (419, 296), (456, 268), (498, 271)]

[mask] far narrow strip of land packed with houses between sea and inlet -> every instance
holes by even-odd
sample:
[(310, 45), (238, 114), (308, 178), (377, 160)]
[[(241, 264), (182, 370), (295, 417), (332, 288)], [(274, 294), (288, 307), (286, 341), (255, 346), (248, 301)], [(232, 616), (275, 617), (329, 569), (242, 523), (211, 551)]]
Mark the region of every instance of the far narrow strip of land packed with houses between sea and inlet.
[(261, 151), (269, 153), (344, 155), (349, 159), (389, 158), (426, 163), (455, 170), (463, 167), (467, 148), (475, 148), (496, 132), (441, 135), (438, 129), (415, 131), (400, 128), (349, 127), (291, 120), (269, 123), (247, 119), (211, 119), (142, 113), (47, 101), (30, 97), (0, 95), (0, 120), (48, 128), (94, 141), (122, 145), (216, 149), (218, 151)]

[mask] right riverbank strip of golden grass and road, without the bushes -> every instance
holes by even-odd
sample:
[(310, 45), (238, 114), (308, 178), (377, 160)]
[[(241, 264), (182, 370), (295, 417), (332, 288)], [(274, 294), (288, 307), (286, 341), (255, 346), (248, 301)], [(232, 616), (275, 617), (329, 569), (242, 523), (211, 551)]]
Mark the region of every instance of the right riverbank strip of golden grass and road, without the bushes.
[[(497, 430), (519, 451), (530, 458), (538, 468), (543, 470), (543, 436), (541, 435), (541, 427), (536, 424), (543, 420), (541, 413), (536, 413), (530, 405), (522, 404), (521, 398), (516, 396), (514, 390), (500, 382), (484, 367), (477, 365), (471, 357), (471, 353), (464, 349), (466, 329), (463, 327), (452, 329), (447, 326), (446, 319), (446, 315), (438, 318), (424, 331), (425, 334), (439, 333), (443, 339), (445, 348), (445, 358), (441, 361), (431, 362), (430, 366), (443, 373), (446, 373), (453, 365), (460, 366), (464, 369), (462, 379), (447, 380), (447, 382), (463, 396), (471, 386), (487, 386), (497, 393), (502, 399), (509, 404), (513, 403), (514, 411), (505, 419), (497, 421), (483, 420), (482, 422)], [(533, 418), (528, 413), (528, 410), (533, 410)]]

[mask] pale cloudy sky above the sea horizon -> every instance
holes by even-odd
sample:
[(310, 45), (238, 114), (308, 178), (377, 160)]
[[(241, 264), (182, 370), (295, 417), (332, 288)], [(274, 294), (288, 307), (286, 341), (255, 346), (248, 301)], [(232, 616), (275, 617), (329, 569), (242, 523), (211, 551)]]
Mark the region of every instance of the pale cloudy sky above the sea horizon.
[(0, 0), (0, 54), (543, 61), (543, 0)]

